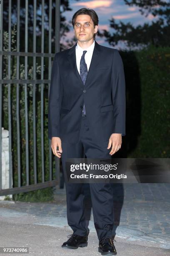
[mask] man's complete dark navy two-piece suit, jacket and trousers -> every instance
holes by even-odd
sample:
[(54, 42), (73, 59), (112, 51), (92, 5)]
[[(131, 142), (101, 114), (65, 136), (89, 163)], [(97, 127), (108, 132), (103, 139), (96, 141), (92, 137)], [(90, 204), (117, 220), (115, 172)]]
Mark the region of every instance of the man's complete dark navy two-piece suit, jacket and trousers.
[[(125, 135), (125, 77), (116, 49), (95, 41), (85, 85), (76, 65), (75, 46), (55, 54), (49, 95), (48, 136), (60, 137), (62, 165), (67, 158), (111, 158), (112, 133)], [(82, 117), (85, 104), (86, 117)], [(67, 220), (73, 232), (85, 236), (82, 184), (68, 184)], [(112, 236), (113, 200), (110, 184), (90, 184), (92, 210), (99, 240)]]

